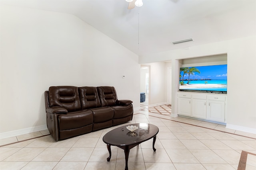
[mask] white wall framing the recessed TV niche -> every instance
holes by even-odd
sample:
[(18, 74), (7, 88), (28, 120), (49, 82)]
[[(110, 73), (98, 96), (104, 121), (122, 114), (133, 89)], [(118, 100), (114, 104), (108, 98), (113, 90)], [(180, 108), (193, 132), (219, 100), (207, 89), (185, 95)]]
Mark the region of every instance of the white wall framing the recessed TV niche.
[(180, 67), (179, 59), (227, 54), (228, 60), (228, 103), (227, 126), (256, 133), (256, 36), (221, 41), (190, 49), (166, 51), (154, 55), (141, 56), (139, 63), (172, 60), (172, 111), (177, 114), (177, 86)]

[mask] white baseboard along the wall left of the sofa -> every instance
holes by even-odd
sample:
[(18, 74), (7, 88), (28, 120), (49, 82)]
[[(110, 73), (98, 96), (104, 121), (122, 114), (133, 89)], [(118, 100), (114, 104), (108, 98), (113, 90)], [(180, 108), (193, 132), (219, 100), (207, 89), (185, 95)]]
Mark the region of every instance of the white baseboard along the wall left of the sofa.
[(16, 131), (4, 132), (4, 133), (0, 133), (0, 139), (4, 139), (7, 137), (14, 137), (14, 136), (18, 136), (18, 135), (24, 135), (27, 133), (32, 133), (32, 132), (37, 132), (37, 131), (43, 131), (46, 129), (47, 129), (46, 125), (41, 125), (41, 126), (35, 126), (35, 127), (28, 127), (25, 129), (19, 129)]

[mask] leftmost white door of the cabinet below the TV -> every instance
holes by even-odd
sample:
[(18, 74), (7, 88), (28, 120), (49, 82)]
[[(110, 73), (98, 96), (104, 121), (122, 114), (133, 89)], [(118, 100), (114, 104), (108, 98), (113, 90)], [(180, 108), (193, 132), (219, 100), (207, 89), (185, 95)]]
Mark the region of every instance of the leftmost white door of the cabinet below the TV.
[(190, 98), (178, 98), (178, 114), (191, 116)]

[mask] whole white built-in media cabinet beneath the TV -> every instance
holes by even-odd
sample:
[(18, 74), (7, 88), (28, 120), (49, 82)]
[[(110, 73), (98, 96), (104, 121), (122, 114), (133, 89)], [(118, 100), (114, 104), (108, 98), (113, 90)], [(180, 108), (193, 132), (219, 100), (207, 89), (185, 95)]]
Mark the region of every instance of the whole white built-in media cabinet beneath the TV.
[(227, 94), (178, 92), (178, 115), (226, 124)]

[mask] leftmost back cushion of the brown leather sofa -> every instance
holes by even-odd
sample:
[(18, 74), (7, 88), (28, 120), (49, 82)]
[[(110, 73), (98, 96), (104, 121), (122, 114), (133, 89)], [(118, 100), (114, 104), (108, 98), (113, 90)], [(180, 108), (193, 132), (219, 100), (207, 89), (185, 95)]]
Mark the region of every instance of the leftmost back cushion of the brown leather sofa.
[(68, 111), (81, 110), (78, 87), (51, 86), (49, 88), (49, 105), (64, 107)]

